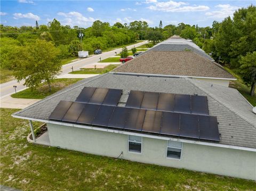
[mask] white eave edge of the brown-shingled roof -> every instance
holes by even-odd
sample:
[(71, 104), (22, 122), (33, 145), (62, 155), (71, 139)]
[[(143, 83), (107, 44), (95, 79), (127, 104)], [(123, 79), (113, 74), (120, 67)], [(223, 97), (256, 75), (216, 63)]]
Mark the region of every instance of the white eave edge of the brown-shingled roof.
[(237, 80), (236, 78), (213, 78), (213, 77), (202, 77), (202, 76), (175, 76), (175, 75), (151, 74), (151, 73), (132, 73), (132, 72), (108, 72), (108, 73), (131, 75), (131, 76), (164, 77), (164, 78), (201, 78), (201, 79), (216, 79), (216, 80)]

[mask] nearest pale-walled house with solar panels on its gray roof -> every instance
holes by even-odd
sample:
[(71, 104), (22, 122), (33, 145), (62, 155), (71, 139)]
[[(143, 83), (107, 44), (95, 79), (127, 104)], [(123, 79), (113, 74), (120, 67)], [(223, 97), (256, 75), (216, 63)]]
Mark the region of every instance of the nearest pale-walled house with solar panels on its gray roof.
[[(85, 87), (87, 87), (86, 91)], [(106, 89), (97, 89), (98, 92), (96, 92), (94, 88), (88, 87), (117, 89), (113, 94), (117, 96), (109, 97), (110, 94)], [(144, 94), (142, 99), (140, 97), (140, 100), (143, 100), (141, 104), (139, 97), (127, 103), (127, 99), (130, 99), (131, 95), (135, 95), (131, 90), (154, 93), (147, 93), (146, 97)], [(174, 111), (163, 112), (162, 118), (161, 112), (158, 115), (159, 111), (156, 114), (156, 111), (150, 109), (146, 111), (146, 115), (141, 115), (141, 112), (145, 114), (142, 109), (136, 109), (139, 112), (133, 116), (131, 116), (132, 112), (114, 114), (116, 108), (131, 110), (126, 107), (127, 104), (139, 103), (141, 108), (149, 107), (153, 101), (158, 105), (162, 103), (162, 106), (165, 106), (164, 100), (166, 104), (170, 104), (167, 97), (161, 101), (159, 97), (155, 99), (154, 96), (161, 95), (158, 93), (167, 93), (165, 95), (174, 97), (175, 101), (172, 107)], [(85, 96), (89, 94), (89, 97)], [(121, 97), (118, 97), (120, 95)], [(188, 107), (191, 112), (185, 114), (186, 111), (177, 110), (179, 106), (182, 109), (186, 105), (185, 99), (183, 101), (178, 99), (182, 96), (190, 97), (186, 99), (189, 104), (193, 103), (193, 98), (205, 98), (206, 96), (206, 99), (203, 99), (203, 106), (200, 102), (196, 106), (191, 104)], [(85, 99), (90, 104), (84, 104), (84, 107), (81, 107), (83, 104), (81, 102)], [(149, 102), (146, 102), (145, 99)], [(60, 101), (62, 102), (60, 103)], [(103, 105), (91, 104), (91, 101)], [(114, 106), (115, 109), (111, 112), (108, 110), (113, 106), (105, 106), (110, 103), (109, 101), (117, 103), (117, 107)], [(72, 104), (71, 107), (70, 104)], [(98, 106), (97, 110), (95, 110), (95, 106)], [(206, 114), (195, 114), (194, 109), (206, 109), (204, 110)], [(155, 113), (155, 117), (152, 115), (153, 117), (150, 118), (150, 115), (147, 115), (148, 112)], [(174, 118), (166, 118), (166, 113), (180, 117), (174, 124), (172, 122)], [(113, 128), (112, 116), (116, 116), (116, 114), (119, 114), (119, 118), (115, 118), (117, 121), (114, 124), (118, 128)], [(128, 119), (125, 119), (126, 115)], [(185, 119), (183, 118), (185, 115), (189, 119), (191, 117), (191, 120), (182, 121)], [(183, 77), (106, 73), (77, 82), (12, 116), (47, 123), (47, 134), (49, 135), (47, 144), (50, 146), (110, 157), (119, 156), (126, 160), (167, 167), (256, 179), (256, 115), (252, 113), (252, 105), (233, 88)], [(210, 121), (206, 120), (202, 123), (201, 119), (210, 119), (210, 117)], [(89, 119), (98, 121), (88, 122)], [(155, 119), (162, 119), (162, 124)], [(165, 121), (163, 121), (164, 119)], [(106, 123), (106, 121), (108, 122)], [(123, 128), (121, 128), (121, 124), (124, 125)], [(126, 128), (126, 125), (130, 129)], [(204, 127), (204, 131), (202, 127)], [(177, 130), (175, 135), (163, 134), (164, 131), (172, 131), (175, 128)], [(33, 126), (31, 129), (33, 130)], [(192, 132), (195, 129), (196, 131)], [(199, 138), (189, 138), (191, 133), (192, 135), (195, 133)], [(201, 139), (205, 135), (208, 137), (207, 140)], [(34, 139), (35, 143), (39, 143), (38, 139)]]

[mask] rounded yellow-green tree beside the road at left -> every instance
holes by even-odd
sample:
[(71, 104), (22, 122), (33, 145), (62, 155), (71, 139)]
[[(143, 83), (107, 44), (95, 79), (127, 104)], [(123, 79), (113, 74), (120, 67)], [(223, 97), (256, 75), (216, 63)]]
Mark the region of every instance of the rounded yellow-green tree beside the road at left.
[(14, 77), (25, 80), (24, 85), (32, 89), (45, 81), (51, 92), (51, 81), (61, 70), (58, 54), (59, 50), (45, 40), (19, 47), (10, 57)]

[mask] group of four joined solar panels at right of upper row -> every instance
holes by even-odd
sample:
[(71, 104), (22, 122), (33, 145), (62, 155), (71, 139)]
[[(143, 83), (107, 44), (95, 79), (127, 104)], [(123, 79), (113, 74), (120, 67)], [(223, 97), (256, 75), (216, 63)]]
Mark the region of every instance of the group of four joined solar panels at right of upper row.
[(126, 107), (209, 115), (207, 97), (131, 90)]

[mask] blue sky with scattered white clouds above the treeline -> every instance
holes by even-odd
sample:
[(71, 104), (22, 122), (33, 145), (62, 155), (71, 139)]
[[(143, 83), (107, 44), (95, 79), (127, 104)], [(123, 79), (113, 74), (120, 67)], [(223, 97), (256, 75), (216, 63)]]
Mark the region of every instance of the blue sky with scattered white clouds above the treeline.
[(239, 7), (255, 5), (255, 1), (1, 1), (1, 23), (9, 26), (47, 24), (56, 18), (61, 24), (90, 27), (93, 21), (130, 23), (147, 21), (150, 27), (198, 24), (211, 26), (222, 21)]

